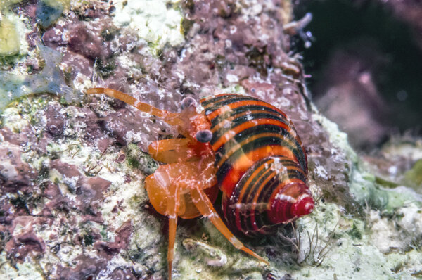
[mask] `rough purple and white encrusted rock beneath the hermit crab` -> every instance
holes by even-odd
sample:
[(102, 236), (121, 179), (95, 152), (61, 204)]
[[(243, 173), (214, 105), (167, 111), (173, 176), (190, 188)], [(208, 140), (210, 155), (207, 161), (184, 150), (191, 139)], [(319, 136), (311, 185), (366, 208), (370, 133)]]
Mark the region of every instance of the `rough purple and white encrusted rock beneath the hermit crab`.
[[(44, 28), (32, 24), (38, 1), (18, 7), (8, 13), (25, 23), (19, 32), (27, 34), (27, 52), (4, 60), (0, 77), (59, 86), (42, 90), (56, 95), (15, 101), (0, 92), (13, 101), (0, 129), (5, 279), (167, 277), (167, 221), (148, 204), (143, 179), (158, 166), (148, 144), (176, 136), (174, 128), (111, 98), (79, 97), (97, 86), (174, 112), (186, 96), (256, 96), (290, 116), (306, 148), (316, 209), (294, 229), (245, 240), (270, 265), (233, 248), (207, 219), (181, 220), (175, 279), (422, 274), (421, 185), (407, 173), (420, 168), (421, 141), (391, 141), (371, 157), (350, 148), (309, 99), (283, 30), (292, 21), (290, 1), (71, 1)], [(43, 50), (59, 52), (58, 65)], [(46, 68), (57, 74), (53, 81), (41, 74)]]

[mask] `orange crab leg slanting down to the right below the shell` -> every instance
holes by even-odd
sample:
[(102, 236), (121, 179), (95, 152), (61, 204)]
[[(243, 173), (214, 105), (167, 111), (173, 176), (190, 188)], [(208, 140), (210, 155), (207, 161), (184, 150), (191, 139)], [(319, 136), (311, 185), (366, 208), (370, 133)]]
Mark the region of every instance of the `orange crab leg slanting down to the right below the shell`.
[(231, 231), (226, 227), (226, 224), (222, 221), (222, 218), (219, 217), (218, 213), (215, 211), (214, 206), (212, 206), (212, 203), (210, 199), (207, 197), (207, 195), (198, 187), (191, 189), (191, 196), (192, 201), (195, 203), (196, 208), (198, 208), (199, 212), (204, 216), (208, 217), (212, 224), (214, 224), (215, 227), (221, 232), (224, 237), (227, 238), (227, 240), (233, 244), (234, 247), (238, 248), (239, 250), (243, 250), (245, 253), (248, 253), (249, 255), (252, 255), (253, 257), (256, 257), (258, 260), (265, 262), (267, 265), (269, 265), (269, 262), (267, 260), (264, 260), (260, 255), (257, 255), (257, 253), (253, 252), (249, 248), (246, 248), (241, 241), (238, 240), (234, 236), (234, 234), (231, 233)]

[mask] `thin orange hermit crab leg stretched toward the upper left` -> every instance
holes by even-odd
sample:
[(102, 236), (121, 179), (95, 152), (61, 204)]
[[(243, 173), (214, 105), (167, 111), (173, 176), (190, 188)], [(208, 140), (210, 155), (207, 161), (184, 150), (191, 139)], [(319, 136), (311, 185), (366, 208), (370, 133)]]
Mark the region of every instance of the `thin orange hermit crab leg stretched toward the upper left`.
[(117, 98), (124, 103), (134, 106), (136, 109), (155, 115), (155, 117), (160, 117), (162, 120), (165, 120), (169, 125), (179, 125), (181, 121), (177, 117), (178, 115), (166, 110), (160, 110), (151, 106), (147, 103), (140, 102), (136, 98), (129, 96), (128, 94), (124, 94), (122, 91), (117, 91), (115, 89), (108, 89), (106, 87), (92, 87), (91, 89), (87, 90), (87, 94), (106, 94), (110, 97)]

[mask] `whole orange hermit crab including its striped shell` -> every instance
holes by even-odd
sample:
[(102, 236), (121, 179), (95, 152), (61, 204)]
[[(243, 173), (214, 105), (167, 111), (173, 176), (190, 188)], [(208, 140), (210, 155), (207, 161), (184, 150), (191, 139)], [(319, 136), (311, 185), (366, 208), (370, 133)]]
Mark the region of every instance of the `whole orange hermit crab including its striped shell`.
[(274, 226), (307, 215), (314, 201), (307, 187), (307, 160), (293, 124), (278, 108), (257, 98), (222, 94), (185, 98), (181, 113), (159, 110), (106, 88), (107, 94), (177, 126), (184, 138), (153, 141), (151, 156), (165, 165), (145, 180), (153, 208), (169, 218), (168, 274), (172, 276), (177, 218), (203, 215), (236, 248), (268, 264), (231, 233), (212, 203), (223, 192), (229, 227), (245, 235), (267, 234)]

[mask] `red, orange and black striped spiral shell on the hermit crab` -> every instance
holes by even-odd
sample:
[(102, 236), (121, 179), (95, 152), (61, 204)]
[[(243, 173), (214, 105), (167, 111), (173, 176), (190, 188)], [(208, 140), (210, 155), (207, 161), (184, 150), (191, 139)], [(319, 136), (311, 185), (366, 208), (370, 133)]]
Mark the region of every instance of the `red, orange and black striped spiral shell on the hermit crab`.
[(211, 122), (210, 145), (229, 228), (247, 236), (267, 234), (312, 212), (306, 153), (283, 111), (240, 94), (200, 102)]

